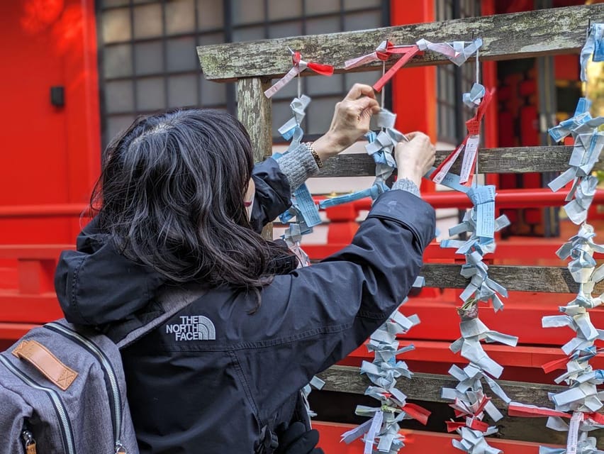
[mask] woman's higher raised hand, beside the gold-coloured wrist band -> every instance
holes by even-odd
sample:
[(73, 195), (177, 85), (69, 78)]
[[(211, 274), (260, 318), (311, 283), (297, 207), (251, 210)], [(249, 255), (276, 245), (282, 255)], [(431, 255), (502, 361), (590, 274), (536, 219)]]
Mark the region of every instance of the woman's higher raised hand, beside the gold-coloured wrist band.
[(329, 131), (315, 140), (313, 149), (321, 160), (337, 155), (369, 131), (371, 115), (380, 111), (374, 89), (354, 84), (346, 97), (335, 105)]

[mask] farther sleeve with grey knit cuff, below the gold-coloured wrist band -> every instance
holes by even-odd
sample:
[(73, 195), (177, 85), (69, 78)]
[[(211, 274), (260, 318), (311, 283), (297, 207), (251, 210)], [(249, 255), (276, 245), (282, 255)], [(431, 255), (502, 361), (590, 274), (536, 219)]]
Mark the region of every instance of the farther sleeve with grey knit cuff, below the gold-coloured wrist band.
[(252, 228), (260, 233), (262, 227), (286, 211), (291, 206), (291, 193), (318, 170), (313, 155), (303, 144), (279, 157), (279, 160), (269, 157), (255, 165), (252, 170), (256, 184), (250, 220)]

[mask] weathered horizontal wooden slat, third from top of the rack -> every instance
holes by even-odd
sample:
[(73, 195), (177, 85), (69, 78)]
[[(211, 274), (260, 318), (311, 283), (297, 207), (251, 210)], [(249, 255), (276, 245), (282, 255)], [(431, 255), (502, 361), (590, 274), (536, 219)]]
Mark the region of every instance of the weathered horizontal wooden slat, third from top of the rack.
[[(459, 275), (461, 265), (425, 263), (420, 275), (425, 277), (426, 287), (464, 289), (469, 279)], [(515, 292), (578, 293), (566, 267), (529, 267), (489, 265), (488, 277)], [(594, 293), (604, 292), (604, 281), (595, 284)]]

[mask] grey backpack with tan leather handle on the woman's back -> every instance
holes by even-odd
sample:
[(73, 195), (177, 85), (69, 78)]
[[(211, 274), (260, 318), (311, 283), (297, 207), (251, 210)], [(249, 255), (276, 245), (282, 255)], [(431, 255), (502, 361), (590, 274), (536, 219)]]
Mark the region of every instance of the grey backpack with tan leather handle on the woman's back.
[(119, 350), (200, 296), (163, 292), (107, 334), (52, 321), (0, 353), (0, 454), (138, 454)]

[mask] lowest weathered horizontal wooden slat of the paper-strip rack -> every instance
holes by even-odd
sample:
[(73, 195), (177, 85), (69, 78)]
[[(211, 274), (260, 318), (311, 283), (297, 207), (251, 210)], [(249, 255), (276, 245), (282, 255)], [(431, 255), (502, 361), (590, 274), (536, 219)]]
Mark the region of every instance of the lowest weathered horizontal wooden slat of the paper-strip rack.
[[(325, 391), (349, 392), (364, 394), (365, 389), (371, 384), (366, 375), (361, 375), (359, 367), (332, 366), (324, 370), (318, 377), (325, 381)], [(443, 387), (454, 388), (457, 381), (448, 375), (415, 373), (410, 379), (401, 379), (396, 383), (396, 388), (405, 393), (408, 399), (423, 400), (425, 402), (447, 402), (440, 397)], [(548, 392), (562, 392), (566, 387), (553, 384), (509, 382), (498, 380), (508, 397), (514, 402), (522, 402), (552, 408), (552, 402), (547, 398)], [(491, 395), (487, 390), (487, 394)], [(493, 403), (499, 409), (505, 409), (505, 402), (492, 394)]]

